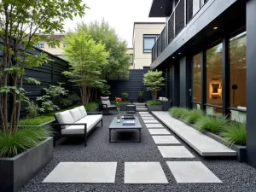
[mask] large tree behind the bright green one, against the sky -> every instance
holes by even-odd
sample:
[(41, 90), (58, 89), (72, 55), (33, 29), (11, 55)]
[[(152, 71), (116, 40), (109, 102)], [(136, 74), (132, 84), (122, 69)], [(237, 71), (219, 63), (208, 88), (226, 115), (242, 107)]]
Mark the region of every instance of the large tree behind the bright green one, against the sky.
[(78, 25), (78, 29), (84, 29), (88, 32), (91, 38), (96, 41), (96, 44), (105, 44), (109, 56), (108, 63), (102, 70), (104, 78), (129, 74), (130, 55), (126, 54), (127, 43), (118, 37), (115, 30), (109, 26), (107, 21), (94, 21), (89, 25), (82, 22)]

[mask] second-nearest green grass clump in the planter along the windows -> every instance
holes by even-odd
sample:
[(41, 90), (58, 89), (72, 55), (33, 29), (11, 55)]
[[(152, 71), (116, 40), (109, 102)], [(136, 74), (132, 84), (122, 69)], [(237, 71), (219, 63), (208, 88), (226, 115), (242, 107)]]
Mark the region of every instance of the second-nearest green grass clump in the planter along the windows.
[(218, 134), (224, 129), (227, 123), (228, 120), (223, 116), (213, 117), (206, 115), (198, 119), (196, 126), (199, 131), (211, 131), (212, 133)]

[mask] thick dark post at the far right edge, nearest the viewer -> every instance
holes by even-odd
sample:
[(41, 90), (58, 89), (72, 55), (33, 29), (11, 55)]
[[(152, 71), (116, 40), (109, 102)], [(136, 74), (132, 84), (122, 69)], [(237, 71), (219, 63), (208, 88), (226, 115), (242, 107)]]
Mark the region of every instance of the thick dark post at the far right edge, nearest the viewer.
[(247, 163), (256, 167), (256, 1), (247, 1)]

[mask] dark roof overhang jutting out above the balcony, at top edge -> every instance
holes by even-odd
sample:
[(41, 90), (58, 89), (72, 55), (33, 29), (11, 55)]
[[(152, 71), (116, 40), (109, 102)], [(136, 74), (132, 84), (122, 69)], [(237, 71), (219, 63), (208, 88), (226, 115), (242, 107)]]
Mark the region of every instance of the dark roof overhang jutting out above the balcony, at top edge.
[(172, 14), (172, 0), (153, 0), (149, 17), (168, 17)]

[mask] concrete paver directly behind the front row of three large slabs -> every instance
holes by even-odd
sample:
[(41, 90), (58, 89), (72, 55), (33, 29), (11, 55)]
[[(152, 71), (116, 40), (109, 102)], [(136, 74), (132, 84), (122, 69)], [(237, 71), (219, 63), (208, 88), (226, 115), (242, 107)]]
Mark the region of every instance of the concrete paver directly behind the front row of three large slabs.
[(164, 158), (194, 158), (195, 156), (183, 146), (158, 146)]

